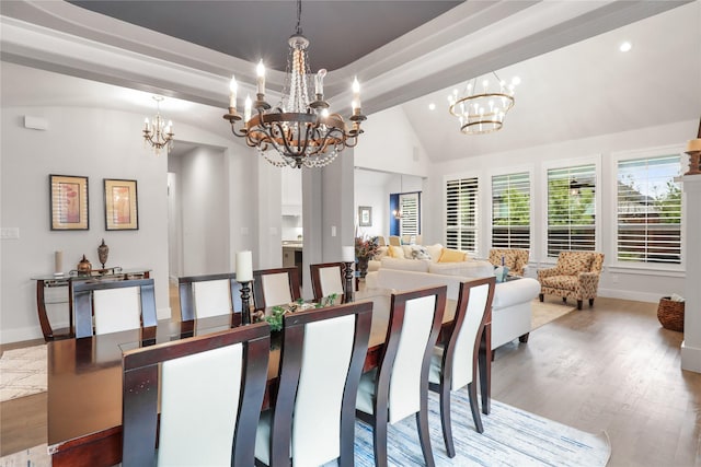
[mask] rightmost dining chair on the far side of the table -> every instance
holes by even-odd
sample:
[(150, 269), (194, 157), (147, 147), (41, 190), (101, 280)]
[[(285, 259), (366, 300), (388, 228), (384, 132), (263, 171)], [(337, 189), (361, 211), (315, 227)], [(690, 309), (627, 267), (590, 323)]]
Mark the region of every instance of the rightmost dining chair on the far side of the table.
[(296, 267), (253, 271), (253, 301), (256, 310), (285, 305), (300, 297)]

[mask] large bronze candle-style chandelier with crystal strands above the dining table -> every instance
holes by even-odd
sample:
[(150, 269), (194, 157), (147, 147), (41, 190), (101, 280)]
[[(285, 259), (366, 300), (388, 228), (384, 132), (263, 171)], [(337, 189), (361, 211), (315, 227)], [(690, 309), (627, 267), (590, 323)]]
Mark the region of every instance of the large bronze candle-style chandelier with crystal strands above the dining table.
[[(246, 96), (243, 117), (237, 113), (237, 81), (231, 78), (229, 113), (223, 116), (231, 124), (231, 132), (256, 148), (271, 164), (284, 167), (323, 167), (345, 148), (353, 148), (363, 133), (360, 124), (366, 117), (360, 112), (360, 85), (353, 82), (353, 115), (350, 128), (343, 117), (329, 112), (324, 101), (323, 79), (326, 70), (311, 74), (307, 47), (309, 40), (300, 27), (301, 0), (297, 2), (297, 30), (288, 39), (287, 77), (281, 101), (275, 108), (265, 102), (265, 68), (257, 66), (256, 100)], [(309, 89), (314, 85), (314, 98)], [(255, 110), (255, 112), (253, 112)], [(241, 128), (237, 124), (242, 121)], [(274, 151), (273, 151), (274, 150)]]

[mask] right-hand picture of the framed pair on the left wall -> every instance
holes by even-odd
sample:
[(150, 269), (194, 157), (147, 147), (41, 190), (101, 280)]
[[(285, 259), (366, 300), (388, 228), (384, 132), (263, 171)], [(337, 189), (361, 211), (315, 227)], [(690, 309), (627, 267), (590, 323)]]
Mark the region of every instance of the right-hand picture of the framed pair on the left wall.
[(139, 229), (136, 180), (105, 178), (105, 230)]

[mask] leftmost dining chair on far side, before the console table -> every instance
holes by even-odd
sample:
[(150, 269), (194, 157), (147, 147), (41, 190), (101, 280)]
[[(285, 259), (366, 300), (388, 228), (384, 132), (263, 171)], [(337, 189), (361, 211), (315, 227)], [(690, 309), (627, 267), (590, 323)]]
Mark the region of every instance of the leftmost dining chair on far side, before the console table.
[(76, 337), (156, 326), (153, 279), (71, 280)]

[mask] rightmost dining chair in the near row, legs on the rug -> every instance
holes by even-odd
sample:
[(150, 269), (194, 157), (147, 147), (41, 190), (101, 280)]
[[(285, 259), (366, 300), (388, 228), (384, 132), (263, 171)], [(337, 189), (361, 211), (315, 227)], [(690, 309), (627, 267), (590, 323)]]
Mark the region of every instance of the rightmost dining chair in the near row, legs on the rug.
[(460, 283), (452, 323), (444, 327), (440, 346), (434, 349), (428, 372), (429, 388), (440, 395), (440, 424), (449, 457), (455, 457), (450, 421), (450, 392), (468, 386), (475, 430), (484, 431), (478, 407), (478, 354), (484, 326), (490, 318), (496, 278), (489, 277)]

